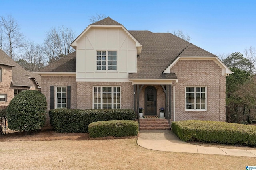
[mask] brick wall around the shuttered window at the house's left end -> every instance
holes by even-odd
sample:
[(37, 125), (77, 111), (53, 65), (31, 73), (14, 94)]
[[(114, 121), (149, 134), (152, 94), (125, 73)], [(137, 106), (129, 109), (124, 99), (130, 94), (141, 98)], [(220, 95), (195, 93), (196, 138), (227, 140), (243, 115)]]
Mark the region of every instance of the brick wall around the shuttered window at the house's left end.
[(47, 117), (44, 129), (50, 128), (50, 86), (54, 86), (54, 106), (55, 106), (55, 86), (71, 86), (71, 109), (76, 109), (76, 76), (42, 76), (41, 92), (47, 101)]

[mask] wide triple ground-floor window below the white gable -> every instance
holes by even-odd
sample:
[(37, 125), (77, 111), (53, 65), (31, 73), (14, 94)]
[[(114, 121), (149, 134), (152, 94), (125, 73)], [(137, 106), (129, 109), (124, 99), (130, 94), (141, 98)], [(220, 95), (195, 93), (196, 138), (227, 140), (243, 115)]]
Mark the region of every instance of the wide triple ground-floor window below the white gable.
[(119, 86), (94, 86), (93, 94), (94, 109), (120, 109)]

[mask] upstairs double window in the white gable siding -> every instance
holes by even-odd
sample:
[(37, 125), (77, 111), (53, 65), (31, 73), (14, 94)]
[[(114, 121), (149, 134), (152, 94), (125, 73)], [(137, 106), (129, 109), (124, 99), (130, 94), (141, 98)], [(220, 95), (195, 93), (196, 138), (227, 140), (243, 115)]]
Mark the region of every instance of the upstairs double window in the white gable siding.
[(97, 51), (96, 63), (97, 70), (116, 70), (117, 51)]

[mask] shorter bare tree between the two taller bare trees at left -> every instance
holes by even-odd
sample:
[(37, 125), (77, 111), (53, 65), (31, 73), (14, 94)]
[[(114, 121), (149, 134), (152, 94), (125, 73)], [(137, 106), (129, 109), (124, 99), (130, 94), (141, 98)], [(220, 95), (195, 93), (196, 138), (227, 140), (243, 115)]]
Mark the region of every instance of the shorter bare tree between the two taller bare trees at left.
[(44, 67), (46, 60), (40, 45), (34, 44), (33, 41), (27, 41), (22, 51), (21, 59), (17, 63), (23, 68), (37, 72)]

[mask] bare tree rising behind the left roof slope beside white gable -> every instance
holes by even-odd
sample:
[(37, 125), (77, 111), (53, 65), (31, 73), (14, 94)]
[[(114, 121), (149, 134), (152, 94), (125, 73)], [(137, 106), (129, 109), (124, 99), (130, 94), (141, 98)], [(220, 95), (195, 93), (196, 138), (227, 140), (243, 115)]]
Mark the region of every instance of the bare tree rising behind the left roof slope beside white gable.
[(75, 32), (71, 28), (64, 26), (50, 29), (46, 32), (46, 39), (42, 45), (44, 54), (48, 57), (48, 63), (72, 53), (74, 49), (70, 46), (76, 38)]

